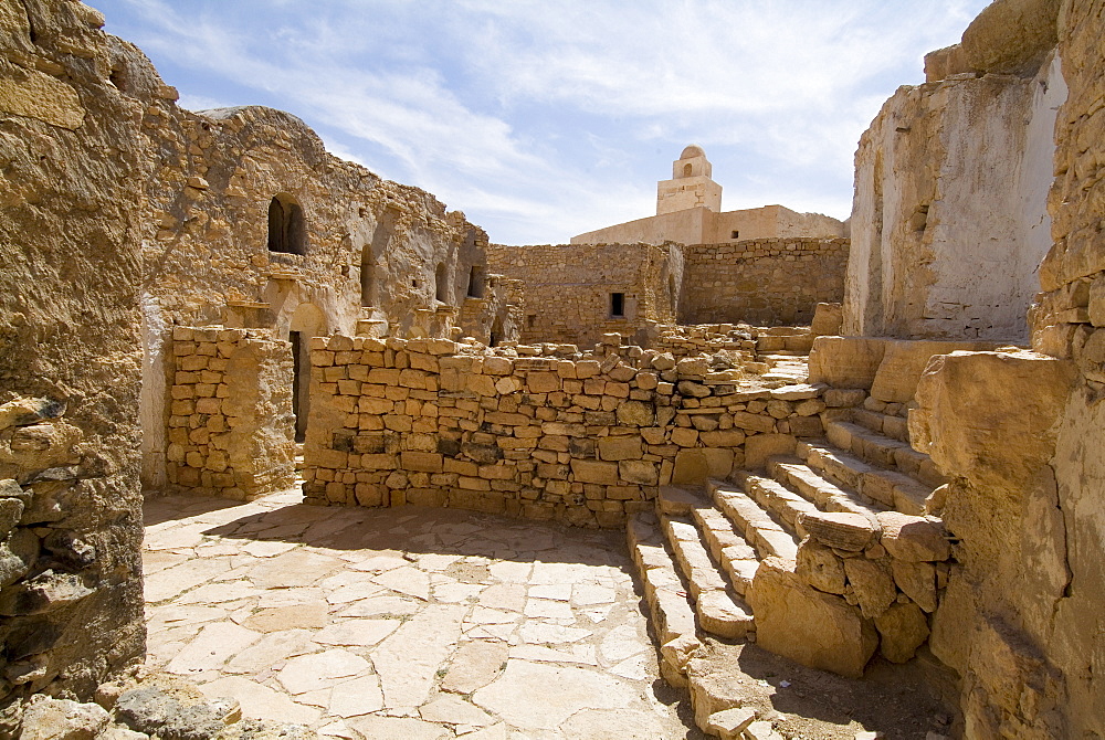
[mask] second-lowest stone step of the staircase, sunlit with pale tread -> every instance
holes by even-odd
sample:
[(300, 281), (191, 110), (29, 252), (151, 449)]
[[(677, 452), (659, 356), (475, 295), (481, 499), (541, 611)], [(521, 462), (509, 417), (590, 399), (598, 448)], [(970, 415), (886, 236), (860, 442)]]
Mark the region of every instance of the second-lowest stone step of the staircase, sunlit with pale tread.
[(698, 527), (683, 517), (662, 516), (661, 524), (675, 562), (694, 602), (698, 625), (704, 632), (738, 639), (755, 626), (751, 610), (727, 590), (725, 577), (702, 542)]

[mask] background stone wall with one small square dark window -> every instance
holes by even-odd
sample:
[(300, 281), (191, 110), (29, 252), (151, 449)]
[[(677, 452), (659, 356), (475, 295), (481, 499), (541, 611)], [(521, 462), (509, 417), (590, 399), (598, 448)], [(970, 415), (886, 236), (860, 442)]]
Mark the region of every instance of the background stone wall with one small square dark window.
[[(632, 337), (649, 324), (674, 321), (683, 286), (683, 253), (675, 245), (493, 244), (487, 264), (520, 281), (522, 342), (589, 347), (603, 334)], [(622, 296), (620, 315), (614, 294)]]

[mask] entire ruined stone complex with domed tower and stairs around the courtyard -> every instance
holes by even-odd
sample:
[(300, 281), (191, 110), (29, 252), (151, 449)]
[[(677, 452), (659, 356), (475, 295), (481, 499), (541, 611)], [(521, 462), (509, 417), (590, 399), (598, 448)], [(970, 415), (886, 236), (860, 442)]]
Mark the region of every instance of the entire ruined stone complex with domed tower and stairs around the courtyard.
[(1105, 736), (1101, 0), (929, 54), (850, 241), (718, 212), (688, 147), (617, 240), (490, 244), (103, 23), (0, 4), (0, 733), (141, 662), (144, 489), (257, 499), (302, 450), (307, 504), (624, 530), (709, 734), (808, 727), (746, 706), (755, 645), (912, 676), (937, 734)]

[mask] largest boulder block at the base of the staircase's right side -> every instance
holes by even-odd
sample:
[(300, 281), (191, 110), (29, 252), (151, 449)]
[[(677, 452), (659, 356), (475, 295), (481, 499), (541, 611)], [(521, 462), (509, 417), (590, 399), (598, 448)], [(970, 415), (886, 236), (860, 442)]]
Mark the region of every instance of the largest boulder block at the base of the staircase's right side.
[(806, 585), (776, 558), (760, 564), (748, 601), (757, 644), (812, 668), (857, 678), (878, 644), (859, 610)]

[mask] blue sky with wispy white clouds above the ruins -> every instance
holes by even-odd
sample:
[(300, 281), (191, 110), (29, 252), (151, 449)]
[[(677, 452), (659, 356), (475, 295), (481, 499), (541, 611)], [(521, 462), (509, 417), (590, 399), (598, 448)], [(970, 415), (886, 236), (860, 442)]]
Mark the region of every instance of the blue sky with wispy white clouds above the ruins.
[(848, 218), (860, 135), (988, 0), (87, 0), (192, 110), (267, 105), (502, 244), (655, 213), (698, 144), (723, 210)]

